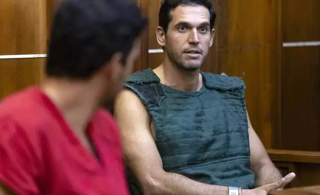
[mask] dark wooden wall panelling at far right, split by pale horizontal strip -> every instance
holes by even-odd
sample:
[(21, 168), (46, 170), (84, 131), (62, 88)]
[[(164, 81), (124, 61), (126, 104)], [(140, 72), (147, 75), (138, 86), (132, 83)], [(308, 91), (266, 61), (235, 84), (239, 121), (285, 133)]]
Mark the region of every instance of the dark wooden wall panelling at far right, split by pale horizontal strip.
[[(283, 41), (320, 41), (319, 10), (320, 0), (282, 0)], [(282, 53), (282, 149), (320, 151), (320, 47)]]

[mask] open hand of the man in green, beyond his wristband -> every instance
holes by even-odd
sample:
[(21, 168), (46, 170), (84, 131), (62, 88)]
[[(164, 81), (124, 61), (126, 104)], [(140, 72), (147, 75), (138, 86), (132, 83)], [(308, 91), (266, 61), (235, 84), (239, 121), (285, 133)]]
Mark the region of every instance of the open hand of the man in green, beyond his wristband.
[(287, 184), (292, 182), (292, 180), (294, 180), (295, 178), (296, 178), (296, 174), (290, 173), (277, 182), (267, 184), (252, 190), (245, 190), (243, 191), (242, 195), (267, 195), (268, 192), (271, 192), (274, 190), (282, 190)]

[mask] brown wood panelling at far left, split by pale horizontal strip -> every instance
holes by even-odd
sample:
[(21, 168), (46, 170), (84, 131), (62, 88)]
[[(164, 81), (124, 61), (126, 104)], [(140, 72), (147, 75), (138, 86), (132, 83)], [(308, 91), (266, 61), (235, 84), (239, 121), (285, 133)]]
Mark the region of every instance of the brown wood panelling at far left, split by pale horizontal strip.
[[(44, 0), (0, 1), (0, 55), (46, 53)], [(41, 83), (45, 59), (0, 59), (0, 99)]]

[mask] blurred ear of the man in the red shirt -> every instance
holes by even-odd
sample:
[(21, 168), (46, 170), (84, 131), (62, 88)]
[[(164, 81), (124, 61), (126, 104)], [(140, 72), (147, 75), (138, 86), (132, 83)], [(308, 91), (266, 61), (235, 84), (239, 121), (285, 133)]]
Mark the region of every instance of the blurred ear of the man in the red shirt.
[(105, 76), (108, 81), (116, 82), (118, 75), (121, 73), (122, 67), (122, 54), (117, 52), (112, 55), (111, 59), (106, 62), (104, 67), (101, 69), (101, 73)]

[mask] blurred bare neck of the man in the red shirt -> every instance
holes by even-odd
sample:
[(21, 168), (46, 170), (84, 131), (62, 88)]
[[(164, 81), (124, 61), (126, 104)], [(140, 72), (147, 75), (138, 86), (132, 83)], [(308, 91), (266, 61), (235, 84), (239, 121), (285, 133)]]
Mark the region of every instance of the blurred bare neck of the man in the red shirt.
[(42, 89), (76, 133), (84, 133), (99, 105), (97, 88), (86, 82), (48, 79)]

